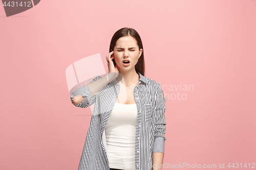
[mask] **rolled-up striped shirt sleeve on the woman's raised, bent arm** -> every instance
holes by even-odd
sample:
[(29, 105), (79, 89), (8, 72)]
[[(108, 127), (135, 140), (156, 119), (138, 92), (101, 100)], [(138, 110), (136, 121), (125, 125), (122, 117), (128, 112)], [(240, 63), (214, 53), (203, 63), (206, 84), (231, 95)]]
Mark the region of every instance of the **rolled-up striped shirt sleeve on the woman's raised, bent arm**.
[[(101, 79), (101, 77), (100, 76), (96, 76), (96, 78), (93, 79), (92, 82), (95, 82), (95, 81), (97, 81), (99, 79)], [(72, 102), (72, 104), (73, 104), (74, 96), (78, 95), (78, 94), (80, 94), (81, 96), (84, 96), (84, 99), (83, 99), (83, 101), (81, 103), (75, 105), (76, 107), (87, 108), (88, 106), (91, 106), (92, 104), (94, 104), (95, 101), (96, 101), (96, 95), (94, 95), (91, 92), (91, 90), (88, 87), (88, 85), (82, 86), (82, 87), (74, 90), (71, 93), (71, 102)]]

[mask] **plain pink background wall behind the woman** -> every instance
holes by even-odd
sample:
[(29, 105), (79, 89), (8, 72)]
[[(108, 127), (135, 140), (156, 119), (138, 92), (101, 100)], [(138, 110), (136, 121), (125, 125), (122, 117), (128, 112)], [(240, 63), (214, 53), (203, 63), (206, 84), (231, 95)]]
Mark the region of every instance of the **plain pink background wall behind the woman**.
[(108, 71), (123, 27), (142, 38), (146, 77), (194, 86), (163, 86), (164, 163), (256, 163), (256, 1), (43, 0), (10, 17), (1, 6), (0, 24), (0, 169), (78, 168), (91, 110), (71, 103), (65, 70), (100, 53)]

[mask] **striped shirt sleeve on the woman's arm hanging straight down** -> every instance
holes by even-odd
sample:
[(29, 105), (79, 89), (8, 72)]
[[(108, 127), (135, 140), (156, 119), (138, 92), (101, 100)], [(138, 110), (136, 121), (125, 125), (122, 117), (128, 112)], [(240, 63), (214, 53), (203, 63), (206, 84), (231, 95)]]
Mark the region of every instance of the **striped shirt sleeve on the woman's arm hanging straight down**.
[(163, 90), (159, 85), (156, 95), (156, 106), (154, 108), (154, 114), (157, 115), (157, 120), (155, 123), (155, 137), (154, 137), (154, 144), (153, 144), (153, 153), (155, 152), (162, 152), (164, 153), (164, 142), (166, 140), (165, 134), (165, 109), (166, 106), (165, 101), (166, 98), (163, 95)]

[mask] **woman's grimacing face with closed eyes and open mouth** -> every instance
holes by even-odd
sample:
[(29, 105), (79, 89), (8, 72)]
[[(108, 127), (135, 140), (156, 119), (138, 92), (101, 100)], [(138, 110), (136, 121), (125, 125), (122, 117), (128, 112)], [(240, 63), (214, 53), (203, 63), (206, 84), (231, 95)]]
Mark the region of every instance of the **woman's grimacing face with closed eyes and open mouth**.
[[(139, 49), (137, 40), (132, 36), (121, 37), (116, 41), (113, 55), (119, 69), (128, 71), (135, 67), (141, 54), (142, 48)], [(125, 63), (124, 60), (130, 62)]]

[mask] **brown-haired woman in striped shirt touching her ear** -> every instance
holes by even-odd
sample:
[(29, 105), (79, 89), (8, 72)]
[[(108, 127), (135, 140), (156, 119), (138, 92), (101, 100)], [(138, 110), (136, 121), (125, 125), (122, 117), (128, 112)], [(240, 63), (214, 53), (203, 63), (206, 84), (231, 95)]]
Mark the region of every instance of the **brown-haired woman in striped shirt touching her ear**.
[(160, 84), (144, 76), (137, 31), (118, 30), (106, 60), (109, 74), (71, 93), (77, 107), (95, 103), (78, 169), (161, 169), (166, 98)]

